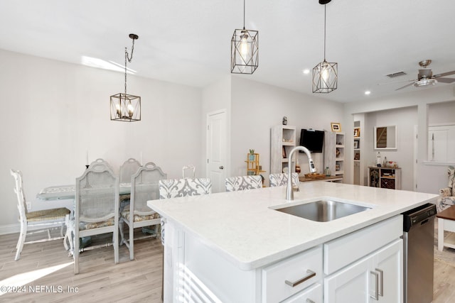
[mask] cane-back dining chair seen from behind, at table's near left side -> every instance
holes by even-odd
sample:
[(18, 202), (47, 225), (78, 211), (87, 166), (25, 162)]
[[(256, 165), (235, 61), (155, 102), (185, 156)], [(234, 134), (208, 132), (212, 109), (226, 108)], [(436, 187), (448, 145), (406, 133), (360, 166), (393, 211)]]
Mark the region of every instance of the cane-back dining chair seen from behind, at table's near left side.
[(74, 272), (79, 273), (79, 238), (113, 233), (114, 263), (119, 263), (119, 177), (102, 163), (76, 179)]

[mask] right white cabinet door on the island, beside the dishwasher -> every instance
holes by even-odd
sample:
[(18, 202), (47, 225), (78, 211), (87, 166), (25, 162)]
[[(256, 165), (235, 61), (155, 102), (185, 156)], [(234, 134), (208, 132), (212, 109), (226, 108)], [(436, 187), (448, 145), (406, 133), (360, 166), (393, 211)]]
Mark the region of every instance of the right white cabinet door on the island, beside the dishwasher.
[[(373, 272), (378, 273), (378, 300), (370, 302), (403, 302), (403, 241), (398, 239), (373, 255)], [(375, 275), (370, 283), (375, 294)]]

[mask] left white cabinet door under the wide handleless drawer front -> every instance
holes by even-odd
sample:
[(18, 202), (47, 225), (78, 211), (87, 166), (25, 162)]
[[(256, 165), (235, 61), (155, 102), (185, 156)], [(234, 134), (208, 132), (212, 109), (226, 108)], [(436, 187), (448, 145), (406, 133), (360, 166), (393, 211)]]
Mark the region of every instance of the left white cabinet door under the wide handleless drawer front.
[(365, 258), (324, 279), (324, 302), (368, 302), (371, 259)]

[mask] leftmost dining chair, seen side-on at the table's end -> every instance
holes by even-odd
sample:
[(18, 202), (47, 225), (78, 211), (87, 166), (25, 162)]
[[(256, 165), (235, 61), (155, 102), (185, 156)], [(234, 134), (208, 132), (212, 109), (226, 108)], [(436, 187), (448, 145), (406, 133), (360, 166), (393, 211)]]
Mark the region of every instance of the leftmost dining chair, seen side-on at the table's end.
[[(70, 210), (61, 207), (57, 209), (44, 209), (41, 211), (27, 211), (26, 196), (23, 192), (22, 172), (20, 170), (11, 170), (10, 172), (16, 182), (14, 192), (16, 192), (17, 197), (17, 208), (19, 211), (18, 219), (21, 222), (21, 233), (19, 233), (19, 239), (16, 245), (16, 257), (14, 258), (14, 260), (17, 261), (21, 258), (24, 244), (63, 239), (65, 219), (70, 215)], [(50, 228), (60, 228), (60, 236), (51, 237)], [(27, 235), (40, 232), (47, 232), (48, 238), (26, 242)]]

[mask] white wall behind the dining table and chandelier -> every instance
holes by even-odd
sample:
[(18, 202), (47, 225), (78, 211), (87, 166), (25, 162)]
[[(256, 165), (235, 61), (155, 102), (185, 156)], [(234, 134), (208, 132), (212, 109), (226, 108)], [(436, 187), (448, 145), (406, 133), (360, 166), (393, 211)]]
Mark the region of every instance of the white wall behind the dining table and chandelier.
[[(109, 118), (109, 96), (123, 92), (122, 73), (4, 50), (0, 67), (0, 233), (17, 228), (10, 168), (23, 172), (33, 201), (43, 187), (73, 184), (87, 151), (90, 161), (104, 158), (114, 167), (142, 153), (168, 177), (180, 177), (183, 165), (202, 165), (201, 89), (129, 75), (128, 92), (141, 96), (142, 121), (117, 122)], [(36, 201), (32, 210), (45, 206), (54, 205)]]

